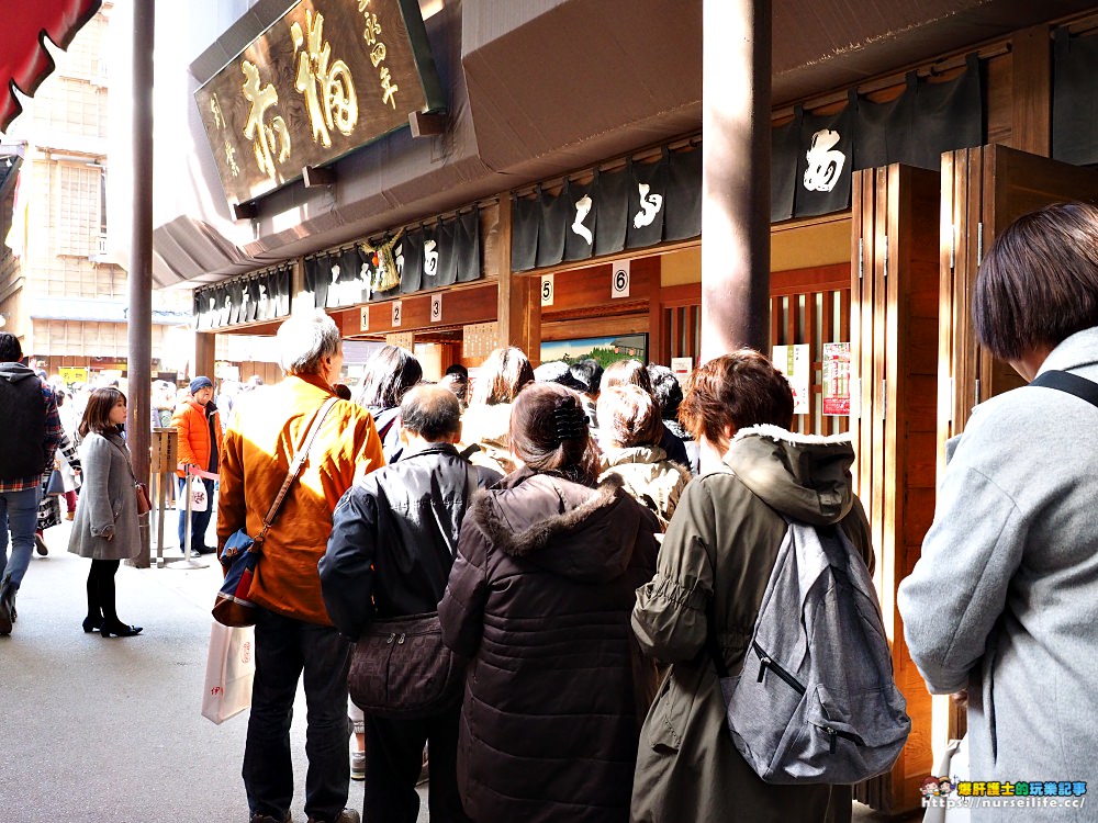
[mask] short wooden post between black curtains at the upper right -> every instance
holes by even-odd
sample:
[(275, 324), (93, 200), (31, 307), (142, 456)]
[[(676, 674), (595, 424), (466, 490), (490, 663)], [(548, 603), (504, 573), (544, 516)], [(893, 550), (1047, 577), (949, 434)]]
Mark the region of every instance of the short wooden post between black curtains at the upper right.
[(1052, 154), (1052, 38), (1047, 25), (1017, 32), (1010, 44), (1013, 67), (1011, 148)]

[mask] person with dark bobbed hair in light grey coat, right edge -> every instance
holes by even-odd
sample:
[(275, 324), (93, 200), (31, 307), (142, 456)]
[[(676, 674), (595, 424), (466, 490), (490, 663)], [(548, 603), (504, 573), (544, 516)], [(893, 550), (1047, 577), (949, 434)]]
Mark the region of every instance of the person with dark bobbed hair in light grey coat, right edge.
[[(967, 692), (972, 780), (988, 794), (993, 782), (1055, 787), (1060, 808), (1031, 804), (1019, 819), (1093, 820), (1079, 807), (1098, 785), (1087, 720), (1098, 706), (1098, 408), (1046, 381), (1098, 392), (1098, 208), (1058, 204), (1011, 224), (981, 266), (973, 319), (991, 354), (1037, 385), (981, 404), (965, 426), (899, 587), (904, 633), (931, 692)], [(972, 809), (974, 821), (1005, 814)]]

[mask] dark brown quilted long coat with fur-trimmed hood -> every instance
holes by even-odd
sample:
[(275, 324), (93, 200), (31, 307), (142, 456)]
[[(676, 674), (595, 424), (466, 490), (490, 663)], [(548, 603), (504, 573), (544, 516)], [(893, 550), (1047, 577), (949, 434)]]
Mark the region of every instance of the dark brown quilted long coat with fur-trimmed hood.
[(471, 658), (458, 742), (481, 823), (625, 823), (656, 672), (629, 612), (656, 568), (656, 517), (615, 477), (597, 488), (520, 469), (479, 494), (439, 604)]

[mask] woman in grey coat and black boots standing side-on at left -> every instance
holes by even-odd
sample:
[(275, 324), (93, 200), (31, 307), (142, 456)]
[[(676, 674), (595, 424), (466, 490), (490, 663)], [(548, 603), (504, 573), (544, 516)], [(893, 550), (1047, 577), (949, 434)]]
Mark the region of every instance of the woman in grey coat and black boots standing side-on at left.
[(122, 439), (126, 396), (117, 388), (97, 388), (80, 421), (83, 438), (83, 491), (69, 535), (69, 551), (91, 557), (88, 573), (86, 632), (104, 638), (132, 638), (142, 627), (119, 620), (114, 607), (114, 575), (119, 563), (137, 554), (136, 483), (130, 449)]

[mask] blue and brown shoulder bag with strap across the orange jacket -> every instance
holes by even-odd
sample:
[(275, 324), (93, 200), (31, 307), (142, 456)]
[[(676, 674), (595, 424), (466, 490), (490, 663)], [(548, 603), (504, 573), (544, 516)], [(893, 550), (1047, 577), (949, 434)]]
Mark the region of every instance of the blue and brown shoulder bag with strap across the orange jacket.
[(279, 489), (274, 501), (267, 510), (266, 517), (264, 517), (264, 528), (255, 537), (248, 534), (246, 529), (237, 529), (225, 541), (225, 545), (219, 555), (225, 573), (225, 579), (213, 604), (213, 619), (222, 625), (255, 625), (256, 605), (251, 601), (250, 594), (251, 582), (256, 575), (256, 566), (259, 564), (260, 546), (262, 546), (264, 541), (267, 539), (267, 532), (278, 516), (278, 510), (282, 506), (285, 493), (290, 491), (290, 485), (301, 471), (301, 466), (305, 463), (305, 458), (309, 455), (309, 450), (313, 444), (316, 432), (321, 428), (321, 424), (324, 422), (324, 418), (328, 416), (328, 412), (332, 410), (332, 406), (338, 399), (338, 397), (326, 399), (313, 417), (313, 421), (309, 425), (309, 430), (305, 432), (302, 444), (293, 455), (293, 461), (290, 463), (290, 471), (287, 472), (285, 480), (282, 481), (282, 488)]

